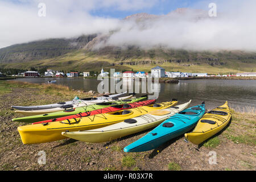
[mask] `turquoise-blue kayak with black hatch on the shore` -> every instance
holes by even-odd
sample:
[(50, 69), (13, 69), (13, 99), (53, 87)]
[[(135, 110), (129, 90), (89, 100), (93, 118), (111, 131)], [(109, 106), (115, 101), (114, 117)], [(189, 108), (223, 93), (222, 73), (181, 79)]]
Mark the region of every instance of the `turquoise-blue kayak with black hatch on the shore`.
[(196, 126), (196, 123), (205, 113), (204, 102), (193, 106), (166, 119), (144, 137), (126, 146), (125, 152), (143, 152), (159, 147), (163, 143), (183, 135)]

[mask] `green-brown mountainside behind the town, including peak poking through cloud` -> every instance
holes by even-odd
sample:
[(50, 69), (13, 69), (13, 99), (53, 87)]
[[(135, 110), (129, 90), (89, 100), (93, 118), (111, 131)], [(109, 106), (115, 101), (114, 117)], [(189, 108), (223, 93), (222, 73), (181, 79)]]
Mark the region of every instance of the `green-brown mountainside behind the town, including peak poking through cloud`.
[[(203, 10), (177, 9), (167, 15), (139, 13), (127, 16), (122, 21), (135, 20), (139, 28), (150, 26), (158, 18), (188, 16), (192, 20), (207, 18)], [(145, 25), (146, 24), (146, 25)], [(133, 69), (150, 71), (155, 65), (167, 71), (236, 73), (256, 70), (256, 52), (241, 50), (189, 51), (170, 49), (164, 46), (141, 48), (135, 45), (109, 46), (109, 34), (82, 35), (71, 39), (46, 39), (15, 44), (0, 49), (1, 68), (51, 68), (57, 70), (109, 71)]]

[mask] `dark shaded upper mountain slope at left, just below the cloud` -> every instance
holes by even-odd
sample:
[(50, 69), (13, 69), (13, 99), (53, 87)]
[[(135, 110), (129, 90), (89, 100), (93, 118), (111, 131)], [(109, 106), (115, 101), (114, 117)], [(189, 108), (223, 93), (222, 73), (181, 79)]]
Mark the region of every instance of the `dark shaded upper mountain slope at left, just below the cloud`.
[(97, 35), (82, 35), (72, 39), (46, 39), (30, 43), (15, 44), (0, 49), (0, 63), (26, 63), (65, 55), (83, 48)]

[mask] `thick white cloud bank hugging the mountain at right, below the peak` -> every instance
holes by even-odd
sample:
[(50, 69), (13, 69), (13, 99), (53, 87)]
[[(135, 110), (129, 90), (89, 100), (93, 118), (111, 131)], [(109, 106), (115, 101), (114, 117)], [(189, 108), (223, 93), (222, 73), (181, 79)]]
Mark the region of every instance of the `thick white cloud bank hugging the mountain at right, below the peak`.
[[(147, 20), (143, 22), (143, 28), (126, 23), (120, 31), (110, 36), (105, 46), (130, 44), (152, 48), (162, 45), (192, 50), (256, 51), (256, 2), (236, 1), (236, 6), (227, 2), (217, 3), (222, 10), (218, 11), (217, 18), (207, 16), (195, 21), (193, 11), (188, 11), (183, 15)], [(205, 14), (208, 15), (208, 12)]]

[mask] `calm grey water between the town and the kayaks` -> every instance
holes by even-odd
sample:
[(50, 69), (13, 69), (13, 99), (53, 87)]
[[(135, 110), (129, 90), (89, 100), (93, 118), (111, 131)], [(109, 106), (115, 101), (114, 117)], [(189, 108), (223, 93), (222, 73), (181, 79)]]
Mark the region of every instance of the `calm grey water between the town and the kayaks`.
[[(17, 81), (42, 83), (57, 80), (56, 84), (71, 86), (73, 89), (97, 91), (100, 83), (94, 78), (18, 78)], [(224, 104), (234, 108), (256, 108), (256, 80), (181, 80), (179, 84), (159, 84), (158, 102), (177, 98), (179, 103), (192, 99), (192, 105), (205, 101), (207, 109)], [(141, 96), (138, 94), (137, 96)]]

